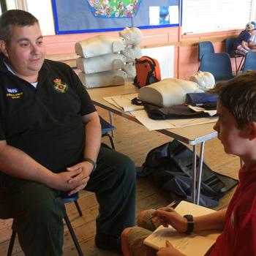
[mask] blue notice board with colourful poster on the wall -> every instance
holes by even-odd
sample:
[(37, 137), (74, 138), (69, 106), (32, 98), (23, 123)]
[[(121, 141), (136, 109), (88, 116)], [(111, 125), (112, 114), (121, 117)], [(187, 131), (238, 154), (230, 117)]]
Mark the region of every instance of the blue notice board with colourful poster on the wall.
[(178, 26), (179, 20), (173, 19), (179, 16), (178, 0), (52, 0), (52, 4), (56, 34)]

